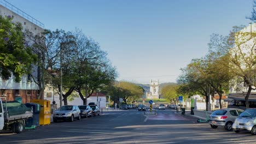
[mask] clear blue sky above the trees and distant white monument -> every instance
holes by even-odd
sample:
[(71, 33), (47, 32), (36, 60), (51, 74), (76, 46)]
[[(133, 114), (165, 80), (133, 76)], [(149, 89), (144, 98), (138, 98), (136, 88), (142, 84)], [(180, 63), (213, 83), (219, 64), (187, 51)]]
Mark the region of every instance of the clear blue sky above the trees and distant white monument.
[(207, 53), (212, 33), (248, 25), (253, 0), (8, 0), (45, 28), (82, 29), (107, 51), (117, 80), (176, 82), (180, 68)]

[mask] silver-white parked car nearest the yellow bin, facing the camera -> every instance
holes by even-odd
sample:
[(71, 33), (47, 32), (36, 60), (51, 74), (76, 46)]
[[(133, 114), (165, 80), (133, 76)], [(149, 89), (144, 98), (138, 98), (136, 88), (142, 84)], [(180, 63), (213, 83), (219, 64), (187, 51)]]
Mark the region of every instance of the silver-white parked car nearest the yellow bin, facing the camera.
[(81, 119), (80, 110), (77, 105), (63, 105), (54, 112), (53, 121), (69, 120), (74, 121), (74, 118)]

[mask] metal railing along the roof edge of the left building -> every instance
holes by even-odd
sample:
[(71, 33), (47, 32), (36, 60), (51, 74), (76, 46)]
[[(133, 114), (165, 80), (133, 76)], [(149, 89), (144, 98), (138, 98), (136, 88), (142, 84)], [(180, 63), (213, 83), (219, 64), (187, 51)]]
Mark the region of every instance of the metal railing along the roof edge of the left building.
[(13, 11), (14, 13), (24, 17), (25, 19), (27, 19), (28, 21), (31, 21), (32, 23), (34, 23), (35, 25), (44, 28), (44, 24), (36, 19), (34, 19), (34, 17), (26, 14), (24, 11), (20, 10), (19, 8), (15, 7), (14, 5), (10, 4), (9, 2), (5, 1), (5, 0), (0, 0), (0, 4), (3, 5), (3, 7)]

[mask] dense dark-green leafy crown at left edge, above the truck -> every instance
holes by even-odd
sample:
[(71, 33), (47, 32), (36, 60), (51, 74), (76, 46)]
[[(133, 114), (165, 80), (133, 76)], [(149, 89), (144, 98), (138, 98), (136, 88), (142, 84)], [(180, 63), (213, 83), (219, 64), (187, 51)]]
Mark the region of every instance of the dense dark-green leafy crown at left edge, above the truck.
[(13, 74), (19, 82), (22, 75), (31, 73), (31, 65), (37, 57), (24, 38), (21, 23), (11, 20), (0, 16), (0, 75), (9, 79)]

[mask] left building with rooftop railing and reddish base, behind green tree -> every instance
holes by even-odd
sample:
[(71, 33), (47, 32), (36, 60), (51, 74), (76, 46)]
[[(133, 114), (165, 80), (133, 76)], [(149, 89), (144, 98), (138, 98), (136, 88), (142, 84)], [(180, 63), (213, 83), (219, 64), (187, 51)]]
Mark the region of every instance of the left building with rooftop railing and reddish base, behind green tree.
[[(13, 22), (21, 23), (23, 31), (28, 29), (33, 34), (44, 31), (43, 23), (6, 1), (0, 0), (0, 15), (13, 17)], [(37, 76), (37, 67), (34, 67), (32, 75)], [(19, 99), (22, 103), (29, 103), (30, 100), (37, 98), (38, 89), (36, 82), (27, 75), (22, 76), (20, 82), (15, 82), (13, 76), (10, 79), (3, 79), (0, 76), (0, 95), (6, 97), (8, 101)]]

